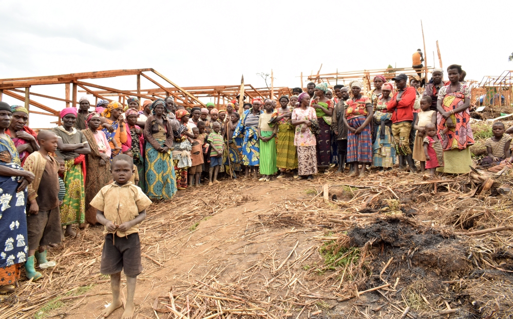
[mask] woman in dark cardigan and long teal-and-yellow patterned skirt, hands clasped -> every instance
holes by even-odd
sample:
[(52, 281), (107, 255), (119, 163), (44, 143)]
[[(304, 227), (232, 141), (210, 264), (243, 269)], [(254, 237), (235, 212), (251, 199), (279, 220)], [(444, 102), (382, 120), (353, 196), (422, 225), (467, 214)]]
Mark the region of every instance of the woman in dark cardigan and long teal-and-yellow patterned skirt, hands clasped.
[(152, 200), (170, 200), (177, 192), (171, 155), (173, 129), (165, 114), (163, 99), (157, 99), (150, 109), (152, 115), (144, 125), (146, 194)]

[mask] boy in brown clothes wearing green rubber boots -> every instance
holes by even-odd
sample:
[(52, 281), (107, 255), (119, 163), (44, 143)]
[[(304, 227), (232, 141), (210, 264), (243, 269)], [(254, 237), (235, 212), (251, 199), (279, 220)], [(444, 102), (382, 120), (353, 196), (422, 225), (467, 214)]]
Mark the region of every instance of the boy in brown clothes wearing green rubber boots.
[[(23, 169), (34, 173), (35, 178), (27, 187), (29, 209), (27, 212), (28, 258), (25, 263), (27, 278), (33, 281), (43, 275), (35, 271), (35, 261), (40, 268), (55, 266), (46, 259), (46, 246), (61, 242), (61, 214), (59, 211), (59, 163), (50, 154), (57, 149), (57, 135), (42, 130), (37, 134), (39, 151), (27, 157)], [(41, 187), (40, 187), (41, 186)]]

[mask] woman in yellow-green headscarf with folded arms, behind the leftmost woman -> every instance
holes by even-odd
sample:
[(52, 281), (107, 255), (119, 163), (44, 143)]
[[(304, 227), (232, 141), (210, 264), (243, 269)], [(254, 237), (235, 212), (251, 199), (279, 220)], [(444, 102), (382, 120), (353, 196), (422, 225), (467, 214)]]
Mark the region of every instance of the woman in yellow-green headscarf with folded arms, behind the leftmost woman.
[(14, 142), (14, 146), (16, 146), (18, 154), (20, 154), (20, 160), (23, 166), (27, 156), (39, 150), (37, 133), (26, 126), (28, 122), (28, 110), (26, 108), (13, 105), (11, 106), (11, 112), (11, 124), (9, 128), (5, 130), (5, 133), (9, 135)]

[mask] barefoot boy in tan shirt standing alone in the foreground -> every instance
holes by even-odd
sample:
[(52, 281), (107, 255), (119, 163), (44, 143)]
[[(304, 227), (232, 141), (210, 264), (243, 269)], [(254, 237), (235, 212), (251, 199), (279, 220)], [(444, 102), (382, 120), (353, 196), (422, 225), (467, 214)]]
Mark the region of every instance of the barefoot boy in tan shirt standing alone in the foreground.
[(141, 244), (139, 227), (146, 217), (146, 208), (150, 199), (136, 185), (130, 182), (134, 162), (126, 154), (113, 158), (110, 172), (114, 182), (104, 186), (91, 201), (91, 206), (98, 209), (96, 218), (105, 226), (105, 242), (102, 250), (100, 272), (110, 275), (112, 304), (105, 309), (103, 316), (120, 308), (121, 270), (126, 275), (127, 298), (122, 319), (134, 315), (134, 293), (137, 276), (142, 271)]

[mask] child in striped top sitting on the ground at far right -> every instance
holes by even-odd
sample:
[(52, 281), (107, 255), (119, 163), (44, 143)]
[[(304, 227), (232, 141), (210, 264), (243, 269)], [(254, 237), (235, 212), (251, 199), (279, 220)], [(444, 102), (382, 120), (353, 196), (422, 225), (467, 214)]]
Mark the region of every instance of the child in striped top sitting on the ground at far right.
[(496, 166), (506, 158), (511, 157), (509, 146), (511, 144), (511, 136), (504, 134), (504, 123), (496, 122), (491, 127), (493, 136), (485, 142), (487, 156), (481, 160), (482, 166)]

